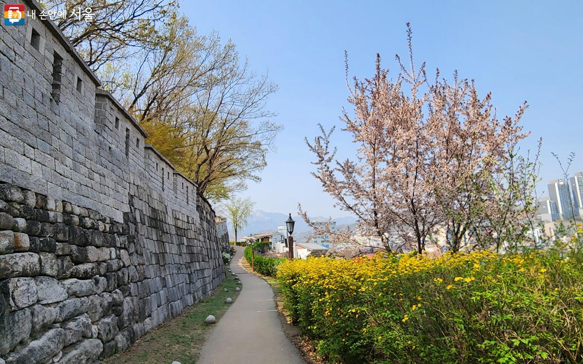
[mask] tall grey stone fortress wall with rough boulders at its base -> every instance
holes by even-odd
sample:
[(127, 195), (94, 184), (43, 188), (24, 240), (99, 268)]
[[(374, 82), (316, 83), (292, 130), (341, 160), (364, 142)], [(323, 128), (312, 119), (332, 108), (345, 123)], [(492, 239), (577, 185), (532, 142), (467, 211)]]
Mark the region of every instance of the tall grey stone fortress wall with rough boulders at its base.
[(0, 363), (92, 363), (223, 280), (215, 212), (24, 4), (0, 26)]

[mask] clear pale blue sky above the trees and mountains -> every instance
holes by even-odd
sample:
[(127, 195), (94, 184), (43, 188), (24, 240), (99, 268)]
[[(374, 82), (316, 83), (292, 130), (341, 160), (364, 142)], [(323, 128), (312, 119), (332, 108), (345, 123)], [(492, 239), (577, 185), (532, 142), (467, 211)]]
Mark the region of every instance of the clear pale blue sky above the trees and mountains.
[[(263, 181), (241, 193), (258, 209), (294, 213), (300, 202), (310, 215), (346, 215), (310, 175), (304, 137), (318, 134), (317, 123), (341, 126), (345, 50), (352, 76), (372, 76), (377, 52), (396, 75), (394, 56), (407, 52), (406, 22), (416, 60), (427, 62), (430, 76), (437, 67), (448, 78), (458, 69), (481, 95), (492, 91), (498, 115), (513, 115), (528, 101), (522, 125), (532, 135), (521, 148), (543, 137), (539, 193), (560, 177), (552, 151), (575, 151), (573, 172), (583, 170), (583, 2), (184, 1), (181, 10), (199, 33), (214, 29), (231, 38), (252, 68), (279, 84), (268, 108), (285, 130)], [(346, 135), (337, 132), (335, 141), (341, 154), (352, 153)]]

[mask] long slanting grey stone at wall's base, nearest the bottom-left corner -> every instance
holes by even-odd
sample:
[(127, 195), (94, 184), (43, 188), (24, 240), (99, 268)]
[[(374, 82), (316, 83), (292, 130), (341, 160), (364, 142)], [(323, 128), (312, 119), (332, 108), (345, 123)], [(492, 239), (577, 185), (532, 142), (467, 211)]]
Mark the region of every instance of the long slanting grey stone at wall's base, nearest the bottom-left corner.
[(43, 363), (61, 351), (64, 340), (65, 330), (62, 328), (48, 330), (40, 339), (6, 356), (6, 364)]

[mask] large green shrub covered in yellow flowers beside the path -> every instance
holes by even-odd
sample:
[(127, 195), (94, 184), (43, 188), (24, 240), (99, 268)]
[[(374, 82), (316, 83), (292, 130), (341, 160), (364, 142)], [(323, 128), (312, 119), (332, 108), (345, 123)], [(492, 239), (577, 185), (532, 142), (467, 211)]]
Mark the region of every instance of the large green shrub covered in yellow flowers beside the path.
[(286, 260), (291, 319), (331, 361), (583, 361), (583, 253)]

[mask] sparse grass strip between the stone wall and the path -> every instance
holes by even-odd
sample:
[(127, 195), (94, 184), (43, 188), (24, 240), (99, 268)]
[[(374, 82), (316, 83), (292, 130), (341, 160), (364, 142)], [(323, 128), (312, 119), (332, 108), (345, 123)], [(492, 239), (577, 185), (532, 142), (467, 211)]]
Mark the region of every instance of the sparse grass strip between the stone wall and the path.
[[(230, 306), (224, 300), (227, 297), (237, 299), (239, 292), (235, 292), (236, 287), (240, 286), (227, 271), (227, 278), (212, 296), (184, 309), (174, 319), (143, 335), (126, 351), (105, 359), (103, 364), (196, 363), (213, 328), (212, 324), (205, 323), (206, 316), (212, 314), (218, 323)], [(223, 288), (229, 289), (229, 292), (224, 292)]]

